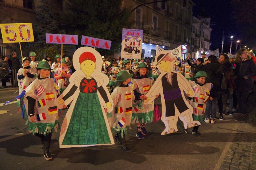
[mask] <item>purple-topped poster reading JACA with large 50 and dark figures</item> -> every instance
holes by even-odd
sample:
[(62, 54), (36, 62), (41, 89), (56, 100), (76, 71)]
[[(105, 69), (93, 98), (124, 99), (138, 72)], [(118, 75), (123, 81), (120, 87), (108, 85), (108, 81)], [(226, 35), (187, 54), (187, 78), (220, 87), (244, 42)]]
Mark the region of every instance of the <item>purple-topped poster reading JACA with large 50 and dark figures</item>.
[(123, 28), (121, 57), (141, 59), (142, 39), (142, 29)]

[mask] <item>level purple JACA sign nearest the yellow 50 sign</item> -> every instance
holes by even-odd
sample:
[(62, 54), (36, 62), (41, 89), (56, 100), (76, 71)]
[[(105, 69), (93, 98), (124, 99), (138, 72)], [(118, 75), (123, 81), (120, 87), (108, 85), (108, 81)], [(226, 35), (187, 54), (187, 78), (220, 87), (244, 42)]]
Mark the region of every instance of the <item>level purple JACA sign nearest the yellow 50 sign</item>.
[(70, 45), (78, 44), (77, 35), (46, 33), (45, 39), (47, 44), (70, 44)]

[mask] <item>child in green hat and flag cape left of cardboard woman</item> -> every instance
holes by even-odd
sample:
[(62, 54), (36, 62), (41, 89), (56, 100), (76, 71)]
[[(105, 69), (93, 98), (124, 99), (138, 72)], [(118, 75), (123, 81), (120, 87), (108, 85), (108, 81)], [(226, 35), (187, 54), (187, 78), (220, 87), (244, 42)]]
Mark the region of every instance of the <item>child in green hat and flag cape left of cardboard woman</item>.
[[(29, 129), (38, 136), (44, 149), (46, 160), (52, 159), (50, 153), (52, 130), (58, 128), (57, 95), (58, 86), (53, 79), (49, 79), (50, 65), (47, 61), (40, 61), (36, 67), (40, 78), (33, 81), (25, 90), (25, 96), (21, 97), (22, 111), (29, 118)], [(23, 93), (23, 92), (22, 92)], [(22, 104), (24, 100), (24, 104)], [(24, 108), (25, 106), (25, 108)]]

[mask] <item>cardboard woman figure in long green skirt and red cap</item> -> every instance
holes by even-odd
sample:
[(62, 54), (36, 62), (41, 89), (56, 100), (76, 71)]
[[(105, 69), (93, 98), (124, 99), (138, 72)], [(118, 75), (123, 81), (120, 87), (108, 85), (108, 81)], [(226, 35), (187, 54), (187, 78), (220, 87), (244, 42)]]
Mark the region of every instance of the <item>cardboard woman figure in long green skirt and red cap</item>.
[(61, 127), (60, 148), (114, 144), (105, 113), (113, 110), (113, 100), (106, 87), (109, 79), (100, 73), (101, 55), (81, 47), (74, 52), (73, 64), (76, 72), (58, 97), (59, 108), (72, 102)]

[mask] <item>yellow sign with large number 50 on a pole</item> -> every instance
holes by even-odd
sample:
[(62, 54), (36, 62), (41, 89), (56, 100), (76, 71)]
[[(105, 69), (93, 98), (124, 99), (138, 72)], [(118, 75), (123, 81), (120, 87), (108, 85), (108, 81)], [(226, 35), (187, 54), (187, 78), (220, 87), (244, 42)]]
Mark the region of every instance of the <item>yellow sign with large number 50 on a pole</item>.
[(33, 42), (32, 23), (0, 24), (3, 43)]

